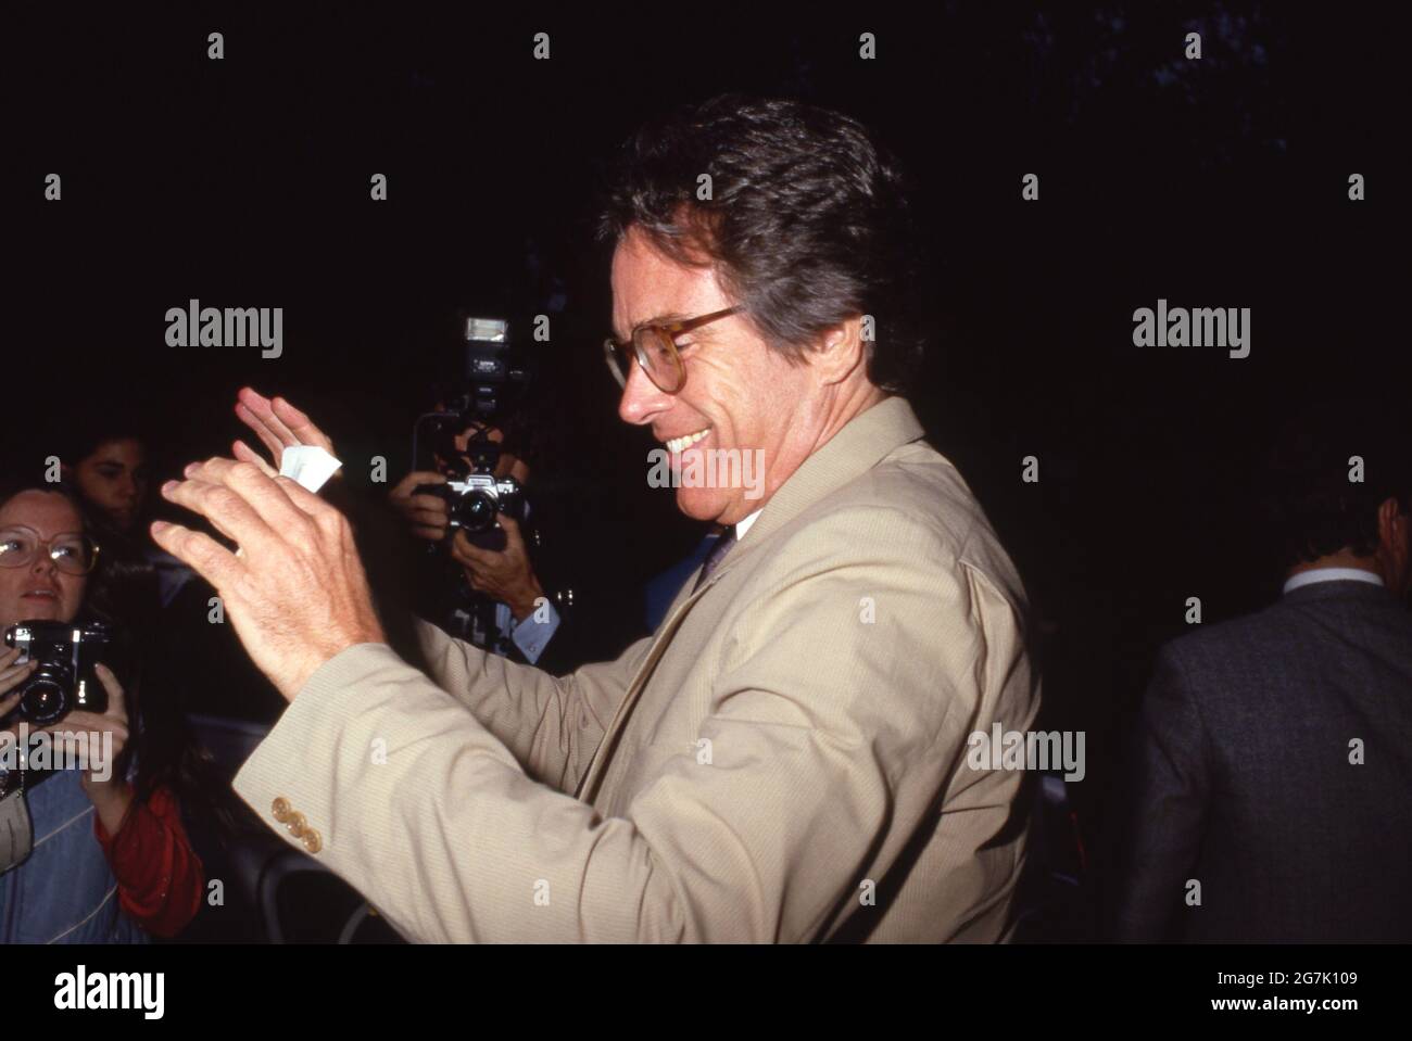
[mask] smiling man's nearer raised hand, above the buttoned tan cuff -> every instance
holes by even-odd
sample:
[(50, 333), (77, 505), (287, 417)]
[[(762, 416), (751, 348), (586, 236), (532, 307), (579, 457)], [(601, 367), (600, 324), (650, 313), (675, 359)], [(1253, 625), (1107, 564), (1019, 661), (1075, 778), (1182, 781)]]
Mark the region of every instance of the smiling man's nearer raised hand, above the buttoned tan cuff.
[(385, 643), (353, 529), (342, 512), (288, 477), (212, 458), (168, 481), (162, 497), (239, 543), (157, 522), (152, 539), (216, 587), (250, 659), (294, 700), (313, 671), (356, 643)]

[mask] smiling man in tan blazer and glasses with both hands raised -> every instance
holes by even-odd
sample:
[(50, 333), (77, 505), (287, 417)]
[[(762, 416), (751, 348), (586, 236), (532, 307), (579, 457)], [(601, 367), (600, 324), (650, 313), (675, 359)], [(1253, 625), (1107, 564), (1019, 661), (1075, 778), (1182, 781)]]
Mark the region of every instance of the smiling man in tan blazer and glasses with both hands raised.
[[(424, 674), (337, 511), (244, 446), (164, 488), (240, 544), (152, 530), (291, 701), (237, 791), (405, 937), (1008, 935), (1024, 774), (967, 739), (1028, 728), (1038, 680), (1019, 578), (895, 394), (899, 183), (858, 124), (786, 102), (716, 99), (624, 150), (618, 410), (726, 535), (616, 662), (552, 677), (424, 626)], [(328, 444), (243, 401), (271, 449)]]

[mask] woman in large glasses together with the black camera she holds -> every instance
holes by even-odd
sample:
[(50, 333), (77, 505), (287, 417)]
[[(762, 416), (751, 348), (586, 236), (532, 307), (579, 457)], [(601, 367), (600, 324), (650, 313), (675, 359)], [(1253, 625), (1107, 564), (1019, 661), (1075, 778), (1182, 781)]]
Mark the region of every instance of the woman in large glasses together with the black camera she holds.
[(68, 489), (0, 489), (0, 942), (144, 942), (201, 906), (162, 728), (99, 660), (119, 650), (99, 556)]

